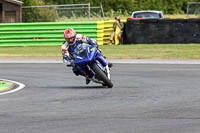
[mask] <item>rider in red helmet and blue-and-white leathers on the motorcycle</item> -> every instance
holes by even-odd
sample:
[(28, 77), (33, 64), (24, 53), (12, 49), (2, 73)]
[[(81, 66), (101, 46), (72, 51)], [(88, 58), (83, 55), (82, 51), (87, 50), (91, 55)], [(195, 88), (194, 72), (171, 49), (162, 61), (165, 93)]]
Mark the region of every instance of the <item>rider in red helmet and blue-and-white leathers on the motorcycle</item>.
[[(61, 46), (63, 63), (68, 67), (73, 67), (72, 71), (75, 75), (84, 76), (84, 74), (76, 67), (72, 53), (74, 52), (74, 49), (82, 43), (87, 43), (98, 48), (97, 41), (82, 34), (76, 34), (75, 30), (72, 28), (65, 30), (64, 38), (66, 41), (64, 41)], [(109, 63), (109, 66), (112, 66), (112, 64)], [(86, 84), (89, 83), (90, 80), (86, 78)]]

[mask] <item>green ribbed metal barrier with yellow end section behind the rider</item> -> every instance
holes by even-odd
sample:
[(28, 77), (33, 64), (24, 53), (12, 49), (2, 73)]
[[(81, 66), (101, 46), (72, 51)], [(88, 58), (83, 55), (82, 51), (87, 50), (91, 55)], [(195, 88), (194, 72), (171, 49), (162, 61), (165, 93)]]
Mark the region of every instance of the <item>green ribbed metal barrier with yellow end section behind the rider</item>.
[[(126, 20), (123, 20), (125, 22)], [(99, 45), (109, 43), (114, 20), (93, 22), (37, 22), (1, 23), (0, 46), (61, 45), (64, 30), (73, 28), (76, 33), (97, 40)]]

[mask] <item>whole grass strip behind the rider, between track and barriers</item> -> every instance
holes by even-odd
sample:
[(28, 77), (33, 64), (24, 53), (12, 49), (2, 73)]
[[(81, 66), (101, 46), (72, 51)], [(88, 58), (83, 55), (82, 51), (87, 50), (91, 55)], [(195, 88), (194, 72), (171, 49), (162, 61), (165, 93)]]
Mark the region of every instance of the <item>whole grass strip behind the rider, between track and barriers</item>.
[[(108, 59), (200, 59), (200, 44), (99, 46)], [(0, 57), (61, 58), (60, 46), (0, 47)]]

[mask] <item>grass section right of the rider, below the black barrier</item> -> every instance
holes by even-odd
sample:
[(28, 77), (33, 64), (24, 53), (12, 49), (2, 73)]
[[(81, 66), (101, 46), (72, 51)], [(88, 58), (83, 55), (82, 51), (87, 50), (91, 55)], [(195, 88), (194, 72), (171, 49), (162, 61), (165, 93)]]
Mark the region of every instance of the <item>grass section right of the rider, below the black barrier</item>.
[(111, 59), (200, 59), (200, 44), (137, 44), (102, 47)]

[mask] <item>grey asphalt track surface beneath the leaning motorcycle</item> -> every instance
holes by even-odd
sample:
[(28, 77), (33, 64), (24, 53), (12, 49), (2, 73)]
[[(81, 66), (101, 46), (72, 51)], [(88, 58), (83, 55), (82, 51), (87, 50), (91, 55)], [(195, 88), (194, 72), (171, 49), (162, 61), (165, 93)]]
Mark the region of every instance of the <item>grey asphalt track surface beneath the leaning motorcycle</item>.
[(1, 63), (25, 84), (0, 96), (1, 133), (199, 133), (199, 64), (124, 64), (112, 89), (61, 63)]

